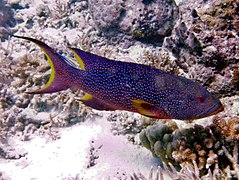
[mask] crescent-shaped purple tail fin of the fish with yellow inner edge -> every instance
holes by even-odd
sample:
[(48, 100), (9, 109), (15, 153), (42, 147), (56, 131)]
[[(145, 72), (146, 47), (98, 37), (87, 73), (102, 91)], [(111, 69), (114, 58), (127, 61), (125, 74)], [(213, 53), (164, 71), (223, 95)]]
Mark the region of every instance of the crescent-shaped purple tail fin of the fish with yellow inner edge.
[(32, 94), (53, 93), (61, 90), (68, 89), (69, 84), (69, 70), (73, 67), (69, 64), (69, 60), (57, 53), (54, 49), (45, 43), (32, 39), (29, 37), (15, 36), (13, 37), (26, 39), (37, 44), (47, 57), (48, 63), (51, 67), (51, 75), (47, 84), (40, 90), (28, 92)]

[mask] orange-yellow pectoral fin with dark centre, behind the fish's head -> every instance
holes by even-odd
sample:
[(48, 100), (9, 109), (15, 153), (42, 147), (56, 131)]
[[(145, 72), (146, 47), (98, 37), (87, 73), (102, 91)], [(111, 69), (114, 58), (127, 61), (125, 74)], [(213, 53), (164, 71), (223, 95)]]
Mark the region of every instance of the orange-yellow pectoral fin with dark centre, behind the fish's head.
[(157, 107), (147, 101), (134, 99), (132, 104), (137, 109), (138, 113), (160, 119), (170, 119), (167, 113), (160, 107)]

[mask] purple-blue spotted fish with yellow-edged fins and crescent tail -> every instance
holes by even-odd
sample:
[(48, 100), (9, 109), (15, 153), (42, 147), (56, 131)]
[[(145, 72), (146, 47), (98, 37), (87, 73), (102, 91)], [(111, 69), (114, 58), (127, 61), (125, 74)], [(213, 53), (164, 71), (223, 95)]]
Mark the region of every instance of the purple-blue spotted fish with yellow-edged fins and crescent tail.
[(79, 67), (42, 41), (16, 36), (38, 45), (51, 74), (46, 85), (28, 93), (80, 89), (78, 100), (96, 110), (123, 110), (155, 119), (192, 121), (223, 111), (220, 100), (198, 82), (147, 65), (110, 60), (69, 48)]

